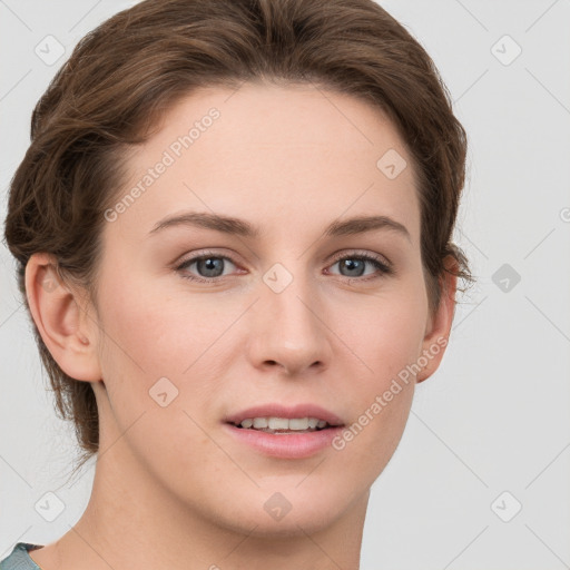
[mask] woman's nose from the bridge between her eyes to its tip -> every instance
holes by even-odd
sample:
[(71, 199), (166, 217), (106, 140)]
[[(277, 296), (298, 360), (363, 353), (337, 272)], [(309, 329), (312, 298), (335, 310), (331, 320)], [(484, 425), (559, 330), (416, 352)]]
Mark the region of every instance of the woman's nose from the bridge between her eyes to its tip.
[(315, 362), (328, 362), (330, 338), (316, 301), (315, 284), (303, 262), (277, 263), (263, 275), (252, 334), (257, 364), (281, 364), (298, 373)]

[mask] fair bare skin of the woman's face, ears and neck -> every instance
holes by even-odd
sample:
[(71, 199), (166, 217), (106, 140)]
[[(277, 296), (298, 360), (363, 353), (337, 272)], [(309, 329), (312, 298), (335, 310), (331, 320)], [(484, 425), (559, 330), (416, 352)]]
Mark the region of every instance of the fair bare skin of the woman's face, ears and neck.
[[(370, 488), (401, 440), (414, 384), (443, 356), (444, 347), (341, 451), (276, 459), (225, 433), (225, 414), (262, 402), (312, 402), (357, 421), (449, 336), (455, 279), (445, 277), (449, 293), (430, 313), (402, 139), (377, 109), (314, 86), (194, 92), (129, 158), (120, 197), (212, 107), (213, 126), (105, 224), (97, 306), (59, 279), (51, 256), (27, 266), (41, 336), (67, 374), (91, 383), (100, 415), (89, 504), (60, 540), (31, 552), (43, 570), (356, 569)], [(391, 148), (407, 163), (394, 179), (376, 167)], [(189, 226), (149, 236), (183, 210), (246, 219), (262, 237)], [(373, 214), (410, 237), (323, 236), (335, 219)], [(184, 278), (207, 276), (197, 264), (176, 268), (205, 249), (232, 259), (214, 285)], [(366, 263), (351, 277), (335, 252), (376, 254), (395, 273)], [(278, 294), (263, 281), (275, 263), (293, 276)], [(58, 286), (42, 286), (50, 281)], [(165, 376), (178, 396), (161, 407), (149, 390)], [(275, 492), (292, 505), (281, 520), (264, 510)]]

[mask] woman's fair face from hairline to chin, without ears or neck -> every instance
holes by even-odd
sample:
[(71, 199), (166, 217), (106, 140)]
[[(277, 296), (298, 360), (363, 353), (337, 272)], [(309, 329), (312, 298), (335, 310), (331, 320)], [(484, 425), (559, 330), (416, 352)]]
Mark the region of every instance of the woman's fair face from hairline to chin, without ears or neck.
[[(396, 173), (407, 165), (395, 177), (377, 166), (389, 150)], [(101, 441), (122, 434), (132, 485), (144, 473), (216, 524), (309, 532), (338, 519), (392, 456), (410, 370), (438, 344), (397, 131), (311, 86), (205, 89), (128, 170), (106, 213), (91, 332)], [(379, 218), (344, 225), (361, 217)], [(255, 417), (309, 433), (232, 423)]]

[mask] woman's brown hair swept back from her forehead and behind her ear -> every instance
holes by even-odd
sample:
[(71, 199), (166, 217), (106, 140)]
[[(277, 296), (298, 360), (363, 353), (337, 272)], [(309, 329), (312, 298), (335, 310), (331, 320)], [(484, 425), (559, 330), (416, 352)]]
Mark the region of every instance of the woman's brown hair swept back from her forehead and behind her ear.
[[(246, 80), (313, 82), (385, 112), (417, 177), (430, 307), (439, 305), (444, 272), (473, 281), (451, 240), (465, 131), (432, 59), (385, 10), (373, 0), (146, 0), (82, 38), (33, 110), (6, 220), (28, 312), (24, 268), (36, 252), (53, 254), (60, 277), (96, 301), (104, 212), (120, 190), (129, 145), (147, 140), (193, 89)], [(91, 384), (68, 376), (33, 328), (82, 464), (99, 448)]]

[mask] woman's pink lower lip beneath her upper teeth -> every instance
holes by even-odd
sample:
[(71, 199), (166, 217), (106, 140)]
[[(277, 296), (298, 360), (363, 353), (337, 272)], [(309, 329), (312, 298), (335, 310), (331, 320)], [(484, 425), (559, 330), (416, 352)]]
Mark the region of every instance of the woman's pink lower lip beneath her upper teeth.
[(229, 423), (225, 426), (239, 442), (265, 455), (282, 459), (303, 459), (314, 455), (330, 446), (333, 438), (342, 430), (342, 426), (336, 426), (316, 432), (275, 434), (236, 428)]

